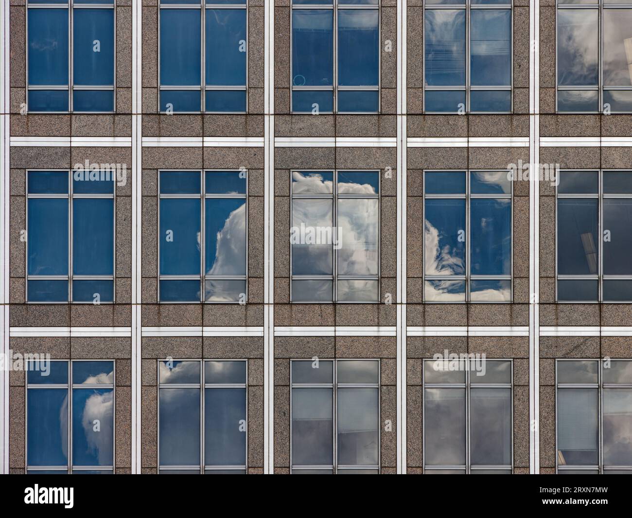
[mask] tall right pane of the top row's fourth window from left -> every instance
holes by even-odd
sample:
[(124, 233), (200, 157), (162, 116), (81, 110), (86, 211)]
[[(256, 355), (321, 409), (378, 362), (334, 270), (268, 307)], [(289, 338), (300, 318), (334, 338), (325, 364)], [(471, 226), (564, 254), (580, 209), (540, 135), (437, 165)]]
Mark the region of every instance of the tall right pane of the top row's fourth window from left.
[(471, 9), (470, 82), (511, 84), (511, 9)]

